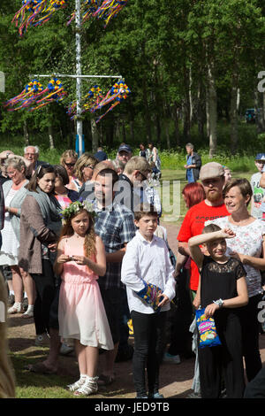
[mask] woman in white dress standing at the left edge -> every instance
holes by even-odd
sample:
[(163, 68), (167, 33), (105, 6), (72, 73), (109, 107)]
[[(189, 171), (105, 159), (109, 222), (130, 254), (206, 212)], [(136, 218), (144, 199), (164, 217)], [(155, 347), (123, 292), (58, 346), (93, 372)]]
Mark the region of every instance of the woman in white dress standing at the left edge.
[(12, 288), (15, 303), (9, 308), (9, 313), (22, 312), (23, 288), (27, 293), (28, 306), (24, 317), (34, 314), (34, 281), (31, 276), (19, 267), (19, 226), (21, 205), (26, 197), (27, 166), (23, 158), (13, 156), (6, 159), (6, 172), (10, 181), (3, 184), (5, 217), (2, 230), (3, 244), (0, 251), (0, 265), (10, 266), (12, 273)]

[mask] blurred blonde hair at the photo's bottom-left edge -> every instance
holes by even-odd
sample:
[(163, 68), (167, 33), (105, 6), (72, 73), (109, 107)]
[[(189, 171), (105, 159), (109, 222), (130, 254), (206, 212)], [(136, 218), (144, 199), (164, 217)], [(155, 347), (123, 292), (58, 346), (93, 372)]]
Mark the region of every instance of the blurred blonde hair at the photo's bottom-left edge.
[(4, 322), (0, 320), (0, 398), (11, 398), (15, 397), (15, 377), (7, 353), (7, 289), (2, 273), (0, 273), (0, 302), (1, 305), (4, 304)]

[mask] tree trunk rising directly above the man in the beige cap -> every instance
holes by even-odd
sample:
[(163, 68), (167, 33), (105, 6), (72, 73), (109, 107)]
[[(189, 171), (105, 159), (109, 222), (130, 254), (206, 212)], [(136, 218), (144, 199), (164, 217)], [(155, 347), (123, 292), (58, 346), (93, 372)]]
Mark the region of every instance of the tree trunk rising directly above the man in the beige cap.
[(217, 94), (214, 65), (208, 63), (208, 129), (209, 129), (209, 158), (216, 155), (217, 148)]

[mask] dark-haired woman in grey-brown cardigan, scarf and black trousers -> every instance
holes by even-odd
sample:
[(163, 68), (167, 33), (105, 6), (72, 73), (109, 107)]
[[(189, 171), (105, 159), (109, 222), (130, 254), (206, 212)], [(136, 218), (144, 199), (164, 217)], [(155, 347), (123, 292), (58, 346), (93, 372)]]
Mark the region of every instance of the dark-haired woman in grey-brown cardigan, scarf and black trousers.
[(58, 325), (57, 316), (50, 314), (56, 295), (52, 257), (62, 226), (62, 208), (54, 196), (55, 179), (53, 166), (38, 166), (27, 184), (27, 196), (21, 206), (19, 266), (31, 273), (35, 282), (36, 345), (48, 342), (51, 328), (57, 331)]

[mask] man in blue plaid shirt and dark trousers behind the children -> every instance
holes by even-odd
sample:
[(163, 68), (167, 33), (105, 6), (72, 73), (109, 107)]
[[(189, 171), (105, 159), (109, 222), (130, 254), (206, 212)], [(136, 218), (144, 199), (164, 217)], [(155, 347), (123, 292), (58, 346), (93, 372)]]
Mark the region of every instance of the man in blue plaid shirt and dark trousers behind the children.
[(125, 288), (120, 281), (121, 262), (126, 244), (135, 235), (134, 216), (124, 205), (114, 201), (114, 184), (118, 181), (117, 172), (111, 168), (103, 169), (95, 177), (95, 233), (105, 245), (107, 270), (98, 283), (102, 301), (110, 324), (114, 350), (105, 352), (105, 366), (99, 384), (108, 385), (114, 381), (114, 363), (119, 343), (121, 319), (121, 299)]

